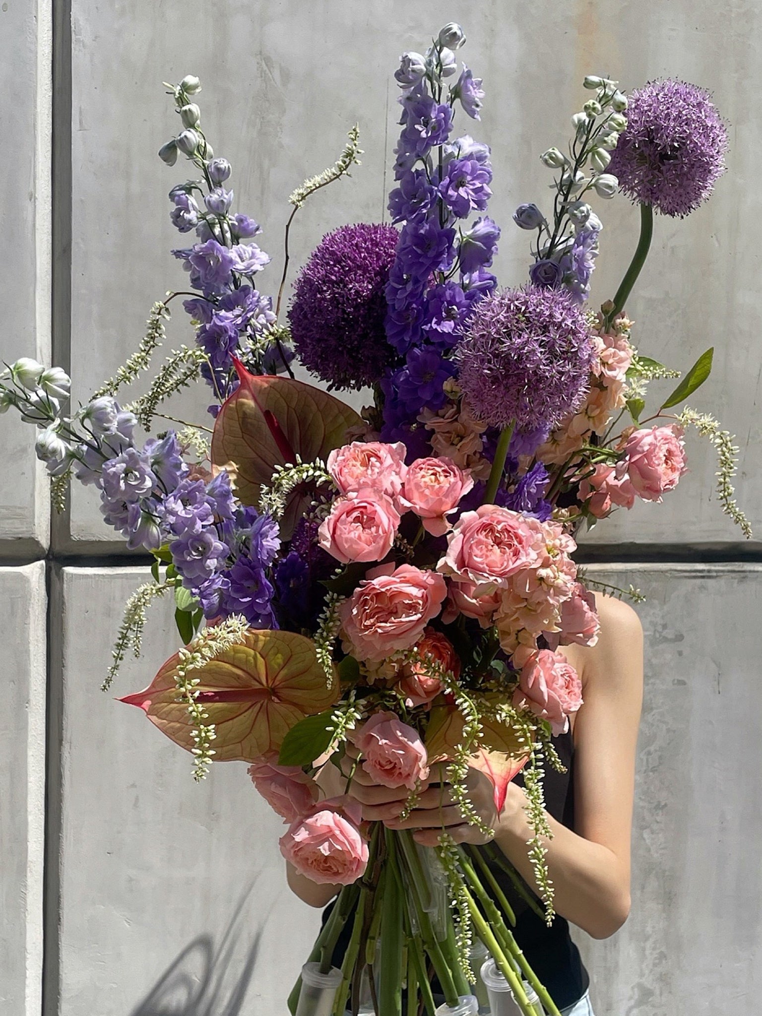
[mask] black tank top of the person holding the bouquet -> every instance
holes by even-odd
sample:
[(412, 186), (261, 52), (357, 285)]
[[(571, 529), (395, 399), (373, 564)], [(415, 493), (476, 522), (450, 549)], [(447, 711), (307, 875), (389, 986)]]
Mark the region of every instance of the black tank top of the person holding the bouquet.
[[(544, 783), (546, 808), (555, 819), (573, 829), (574, 741), (571, 732), (554, 738), (553, 745), (567, 771), (560, 773), (551, 766), (546, 766)], [(520, 774), (516, 777), (516, 782), (521, 783)], [(548, 989), (559, 1009), (574, 1005), (587, 991), (590, 978), (582, 965), (579, 950), (569, 935), (568, 922), (557, 915), (549, 928), (516, 892), (505, 872), (497, 865), (493, 865), (487, 855), (485, 860), (490, 864), (496, 881), (513, 907), (516, 915), (513, 934), (527, 962)], [(323, 911), (323, 922), (332, 908), (333, 903), (330, 903)], [(351, 931), (352, 920), (347, 920), (333, 952), (334, 966), (341, 965), (350, 944)]]

